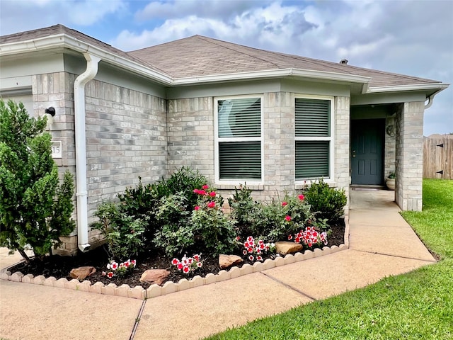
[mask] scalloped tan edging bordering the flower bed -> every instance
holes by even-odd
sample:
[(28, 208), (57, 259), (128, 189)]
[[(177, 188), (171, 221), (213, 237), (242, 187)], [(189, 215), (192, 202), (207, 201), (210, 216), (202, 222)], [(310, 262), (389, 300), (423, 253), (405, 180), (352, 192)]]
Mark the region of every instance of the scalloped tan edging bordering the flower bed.
[(84, 292), (89, 293), (98, 293), (98, 294), (105, 294), (105, 295), (116, 295), (122, 297), (131, 297), (133, 299), (139, 300), (146, 300), (151, 297), (158, 297), (161, 295), (166, 295), (170, 293), (176, 293), (181, 290), (186, 290), (190, 288), (199, 287), (200, 285), (209, 285), (211, 283), (221, 282), (224, 280), (229, 280), (231, 278), (238, 278), (239, 276), (248, 275), (251, 273), (258, 273), (260, 271), (265, 271), (270, 268), (278, 267), (278, 266), (285, 266), (289, 263), (304, 261), (308, 259), (314, 259), (316, 257), (333, 254), (338, 251), (342, 251), (345, 249), (349, 249), (349, 220), (348, 217), (345, 217), (345, 237), (344, 237), (344, 244), (340, 244), (340, 246), (324, 246), (322, 249), (316, 248), (314, 250), (306, 250), (304, 254), (302, 253), (295, 253), (295, 254), (287, 254), (285, 257), (277, 257), (273, 260), (266, 259), (264, 262), (255, 262), (253, 266), (246, 263), (241, 268), (239, 267), (231, 267), (229, 271), (219, 271), (217, 274), (208, 273), (205, 278), (201, 276), (194, 276), (190, 280), (183, 278), (179, 280), (178, 283), (174, 283), (168, 281), (164, 283), (164, 285), (150, 285), (149, 288), (146, 290), (140, 286), (136, 285), (134, 288), (130, 288), (129, 285), (120, 285), (117, 286), (115, 283), (109, 283), (108, 285), (104, 285), (102, 282), (91, 283), (89, 280), (84, 280), (80, 282), (77, 279), (67, 280), (67, 278), (59, 278), (58, 280), (50, 276), (49, 278), (45, 278), (45, 276), (33, 276), (32, 274), (23, 275), (20, 271), (15, 273), (11, 273), (8, 271), (8, 268), (4, 268), (0, 271), (0, 279), (1, 280), (11, 280), (16, 282), (22, 283), (32, 283), (35, 285), (47, 285), (50, 287), (56, 288), (66, 288), (72, 290), (81, 290)]

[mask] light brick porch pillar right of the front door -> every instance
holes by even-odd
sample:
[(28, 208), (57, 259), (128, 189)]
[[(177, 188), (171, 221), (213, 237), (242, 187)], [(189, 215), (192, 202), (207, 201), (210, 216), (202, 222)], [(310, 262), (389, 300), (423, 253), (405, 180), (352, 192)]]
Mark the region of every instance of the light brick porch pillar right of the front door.
[(395, 200), (402, 210), (422, 210), (425, 103), (404, 103), (396, 114)]

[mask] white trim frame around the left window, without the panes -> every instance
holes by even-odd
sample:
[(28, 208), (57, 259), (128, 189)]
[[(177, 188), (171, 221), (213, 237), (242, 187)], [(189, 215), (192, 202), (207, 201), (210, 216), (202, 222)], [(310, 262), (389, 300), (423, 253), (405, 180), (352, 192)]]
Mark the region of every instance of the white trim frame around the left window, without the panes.
[[(246, 98), (260, 98), (260, 137), (219, 137), (219, 101), (246, 99)], [(220, 96), (214, 97), (214, 183), (221, 186), (239, 186), (241, 183), (247, 183), (251, 186), (260, 186), (264, 184), (264, 95), (263, 94), (249, 94), (241, 96)], [(243, 180), (222, 180), (219, 179), (219, 142), (260, 142), (261, 146), (261, 179), (260, 181), (253, 181), (250, 179)]]

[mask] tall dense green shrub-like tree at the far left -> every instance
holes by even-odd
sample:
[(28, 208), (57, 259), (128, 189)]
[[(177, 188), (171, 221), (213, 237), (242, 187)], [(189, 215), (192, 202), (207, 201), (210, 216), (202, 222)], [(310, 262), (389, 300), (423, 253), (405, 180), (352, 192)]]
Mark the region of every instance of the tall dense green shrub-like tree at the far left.
[(75, 226), (73, 176), (67, 171), (59, 186), (46, 121), (30, 118), (23, 103), (0, 99), (0, 245), (25, 261), (25, 246), (42, 259)]

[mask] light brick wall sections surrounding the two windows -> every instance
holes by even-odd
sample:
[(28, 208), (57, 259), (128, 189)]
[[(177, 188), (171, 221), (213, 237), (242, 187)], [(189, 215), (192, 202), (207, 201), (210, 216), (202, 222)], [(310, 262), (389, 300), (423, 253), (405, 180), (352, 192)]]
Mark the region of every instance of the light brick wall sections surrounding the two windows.
[[(333, 186), (349, 189), (349, 105), (348, 97), (335, 98), (335, 173)], [(263, 94), (265, 182), (253, 190), (253, 198), (270, 200), (296, 191), (294, 176), (294, 94)], [(181, 166), (198, 169), (214, 183), (214, 98), (186, 98), (168, 101), (168, 163), (170, 174)], [(228, 198), (234, 186), (217, 185)]]

